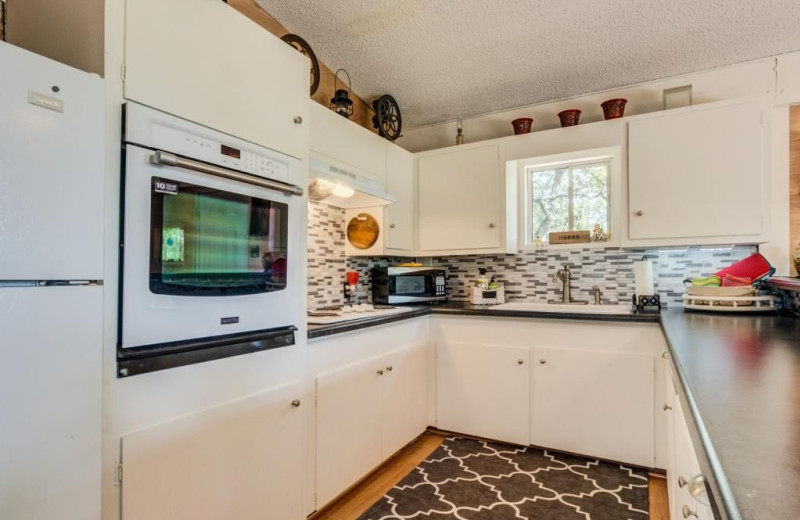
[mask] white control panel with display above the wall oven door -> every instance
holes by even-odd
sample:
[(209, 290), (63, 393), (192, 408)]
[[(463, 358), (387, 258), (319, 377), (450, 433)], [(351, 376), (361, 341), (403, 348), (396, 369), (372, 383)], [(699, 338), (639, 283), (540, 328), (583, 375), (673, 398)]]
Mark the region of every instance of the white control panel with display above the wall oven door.
[(280, 154), (255, 146), (245, 149), (240, 144), (224, 143), (206, 136), (185, 132), (165, 125), (153, 125), (153, 141), (158, 148), (189, 159), (257, 175), (267, 179), (291, 182), (288, 161)]

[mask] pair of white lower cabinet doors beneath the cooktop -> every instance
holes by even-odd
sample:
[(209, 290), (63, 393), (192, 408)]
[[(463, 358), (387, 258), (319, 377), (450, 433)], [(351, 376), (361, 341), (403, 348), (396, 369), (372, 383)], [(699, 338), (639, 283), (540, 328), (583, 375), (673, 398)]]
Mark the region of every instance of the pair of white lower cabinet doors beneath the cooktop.
[(416, 344), (316, 378), (317, 508), (427, 427), (427, 347)]

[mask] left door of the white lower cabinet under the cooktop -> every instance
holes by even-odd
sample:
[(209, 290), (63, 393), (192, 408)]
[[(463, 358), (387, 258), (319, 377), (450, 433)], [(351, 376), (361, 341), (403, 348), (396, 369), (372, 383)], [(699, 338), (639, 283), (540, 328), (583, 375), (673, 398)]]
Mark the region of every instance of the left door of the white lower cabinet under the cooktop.
[(378, 360), (317, 376), (317, 506), (381, 461)]

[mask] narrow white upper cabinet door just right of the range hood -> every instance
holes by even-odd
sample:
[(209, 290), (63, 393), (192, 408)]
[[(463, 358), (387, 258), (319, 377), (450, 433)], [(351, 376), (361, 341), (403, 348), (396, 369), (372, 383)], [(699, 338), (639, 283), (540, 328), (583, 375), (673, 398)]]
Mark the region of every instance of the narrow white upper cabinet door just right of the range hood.
[(386, 248), (411, 251), (414, 247), (414, 155), (389, 144), (386, 147), (386, 192), (397, 199), (386, 208)]

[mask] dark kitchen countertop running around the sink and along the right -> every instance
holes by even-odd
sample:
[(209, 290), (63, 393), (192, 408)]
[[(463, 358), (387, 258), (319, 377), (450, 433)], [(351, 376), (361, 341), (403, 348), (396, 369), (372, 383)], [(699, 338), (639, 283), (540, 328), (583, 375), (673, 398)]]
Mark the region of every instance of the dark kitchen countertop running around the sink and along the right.
[(309, 327), (309, 337), (427, 314), (660, 323), (698, 458), (724, 520), (800, 517), (800, 320), (665, 310), (591, 315), (453, 302)]

